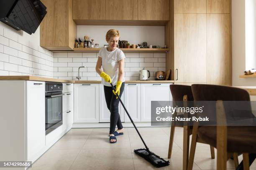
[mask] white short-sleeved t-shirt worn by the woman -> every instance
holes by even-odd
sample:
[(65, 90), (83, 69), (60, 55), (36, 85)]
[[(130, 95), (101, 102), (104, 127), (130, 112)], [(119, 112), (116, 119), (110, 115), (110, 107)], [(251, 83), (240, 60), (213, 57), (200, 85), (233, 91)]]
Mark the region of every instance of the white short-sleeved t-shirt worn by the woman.
[[(110, 76), (112, 84), (116, 85), (118, 80), (118, 61), (125, 58), (123, 51), (116, 47), (115, 50), (109, 52), (106, 47), (102, 47), (98, 56), (102, 58), (103, 71)], [(123, 77), (122, 82), (124, 81)], [(104, 78), (102, 78), (101, 83), (111, 87), (110, 83), (105, 82)]]

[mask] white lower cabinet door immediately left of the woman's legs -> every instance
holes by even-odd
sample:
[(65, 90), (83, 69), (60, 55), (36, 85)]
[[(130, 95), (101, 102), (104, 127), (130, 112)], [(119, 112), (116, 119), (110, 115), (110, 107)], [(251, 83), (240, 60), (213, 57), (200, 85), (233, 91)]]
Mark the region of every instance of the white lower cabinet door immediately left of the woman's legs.
[(74, 84), (74, 122), (99, 122), (99, 84)]

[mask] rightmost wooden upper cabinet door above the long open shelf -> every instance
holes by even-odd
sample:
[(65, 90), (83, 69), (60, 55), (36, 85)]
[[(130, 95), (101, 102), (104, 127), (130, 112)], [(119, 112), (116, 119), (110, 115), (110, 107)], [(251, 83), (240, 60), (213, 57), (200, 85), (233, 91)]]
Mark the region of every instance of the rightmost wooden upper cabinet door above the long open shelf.
[(138, 0), (138, 20), (170, 20), (170, 0)]

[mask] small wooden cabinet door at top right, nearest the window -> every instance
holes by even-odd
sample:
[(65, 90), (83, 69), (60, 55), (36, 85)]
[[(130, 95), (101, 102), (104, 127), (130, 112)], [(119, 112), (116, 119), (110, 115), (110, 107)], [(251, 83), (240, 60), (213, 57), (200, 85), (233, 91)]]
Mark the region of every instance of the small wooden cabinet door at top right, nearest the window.
[(230, 0), (207, 0), (207, 13), (229, 14)]

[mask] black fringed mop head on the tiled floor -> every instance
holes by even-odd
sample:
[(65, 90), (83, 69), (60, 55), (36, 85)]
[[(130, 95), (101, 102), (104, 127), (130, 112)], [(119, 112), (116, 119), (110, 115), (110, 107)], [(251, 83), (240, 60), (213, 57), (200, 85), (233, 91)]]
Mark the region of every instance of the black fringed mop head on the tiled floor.
[(146, 159), (148, 162), (150, 162), (152, 165), (154, 165), (157, 168), (168, 166), (169, 160), (166, 161), (163, 158), (160, 158), (158, 155), (148, 152), (146, 149), (137, 149), (134, 150), (136, 154), (141, 156), (142, 158)]

